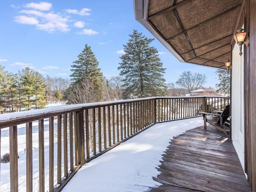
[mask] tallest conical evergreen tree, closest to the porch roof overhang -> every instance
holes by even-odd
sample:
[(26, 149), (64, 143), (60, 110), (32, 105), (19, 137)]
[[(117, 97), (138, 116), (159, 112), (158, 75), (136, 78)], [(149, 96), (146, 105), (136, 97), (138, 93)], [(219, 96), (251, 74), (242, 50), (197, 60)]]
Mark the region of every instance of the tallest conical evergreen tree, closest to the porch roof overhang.
[(125, 54), (120, 57), (122, 62), (118, 67), (120, 76), (124, 76), (123, 98), (165, 96), (165, 68), (162, 68), (156, 48), (150, 47), (154, 39), (142, 36), (137, 30), (129, 36), (128, 43), (123, 45)]

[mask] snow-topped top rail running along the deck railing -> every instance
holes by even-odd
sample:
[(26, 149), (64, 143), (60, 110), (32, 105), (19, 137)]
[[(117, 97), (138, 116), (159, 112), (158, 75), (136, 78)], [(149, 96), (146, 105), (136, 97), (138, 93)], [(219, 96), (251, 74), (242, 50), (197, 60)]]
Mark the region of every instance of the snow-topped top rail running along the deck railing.
[(228, 99), (229, 97), (222, 97), (222, 96), (148, 97), (148, 98), (116, 100), (116, 101), (107, 101), (107, 102), (94, 102), (94, 103), (86, 103), (86, 104), (73, 104), (73, 105), (67, 105), (67, 106), (55, 106), (55, 107), (50, 107), (45, 109), (0, 114), (0, 129), (6, 128), (9, 126), (27, 123), (27, 122), (32, 122), (32, 121), (40, 120), (44, 118), (50, 118), (53, 116), (58, 116), (60, 114), (75, 112), (83, 109), (112, 106), (117, 104), (127, 104), (127, 103), (141, 102), (146, 100), (170, 99), (170, 98), (173, 98), (173, 99), (176, 99), (176, 98), (227, 98)]

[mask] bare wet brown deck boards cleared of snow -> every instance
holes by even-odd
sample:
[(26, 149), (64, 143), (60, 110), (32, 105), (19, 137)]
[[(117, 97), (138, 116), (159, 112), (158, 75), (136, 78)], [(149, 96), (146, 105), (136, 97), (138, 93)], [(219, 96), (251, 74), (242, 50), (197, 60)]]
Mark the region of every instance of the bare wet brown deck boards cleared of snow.
[(150, 192), (251, 192), (232, 141), (213, 126), (174, 138)]

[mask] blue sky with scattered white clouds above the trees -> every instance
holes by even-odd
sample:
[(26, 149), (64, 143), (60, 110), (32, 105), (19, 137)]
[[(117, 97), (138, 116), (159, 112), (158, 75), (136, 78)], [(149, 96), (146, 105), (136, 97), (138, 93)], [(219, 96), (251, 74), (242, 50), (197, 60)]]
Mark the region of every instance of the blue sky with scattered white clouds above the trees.
[[(117, 76), (123, 45), (133, 30), (154, 38), (134, 18), (132, 0), (3, 0), (0, 2), (0, 65), (17, 73), (28, 66), (50, 77), (69, 78), (72, 62), (91, 46), (106, 78)], [(184, 70), (206, 74), (205, 86), (215, 87), (215, 68), (179, 62), (154, 40), (166, 82)]]

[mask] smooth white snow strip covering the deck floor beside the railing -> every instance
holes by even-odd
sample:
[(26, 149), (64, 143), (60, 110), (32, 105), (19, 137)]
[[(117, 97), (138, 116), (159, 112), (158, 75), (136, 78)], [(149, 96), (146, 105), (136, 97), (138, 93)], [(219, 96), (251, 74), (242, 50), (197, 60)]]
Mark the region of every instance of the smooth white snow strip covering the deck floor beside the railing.
[(146, 192), (170, 140), (203, 125), (202, 117), (156, 124), (85, 164), (62, 192)]

